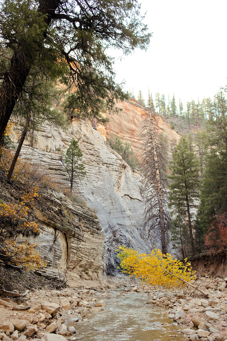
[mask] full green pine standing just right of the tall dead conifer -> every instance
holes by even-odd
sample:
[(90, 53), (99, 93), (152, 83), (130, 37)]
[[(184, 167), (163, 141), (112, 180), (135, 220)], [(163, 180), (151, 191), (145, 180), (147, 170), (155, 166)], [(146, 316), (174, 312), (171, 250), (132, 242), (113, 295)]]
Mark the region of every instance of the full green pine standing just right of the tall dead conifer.
[(199, 161), (185, 137), (181, 137), (173, 152), (172, 183), (169, 186), (169, 206), (185, 221), (188, 220), (191, 253), (194, 254), (192, 209), (199, 192)]

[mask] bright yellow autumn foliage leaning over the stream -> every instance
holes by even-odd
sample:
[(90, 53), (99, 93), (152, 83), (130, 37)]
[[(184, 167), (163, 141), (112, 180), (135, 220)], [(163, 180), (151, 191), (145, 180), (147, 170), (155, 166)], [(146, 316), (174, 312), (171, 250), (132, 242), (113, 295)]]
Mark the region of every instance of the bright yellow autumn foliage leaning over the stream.
[(122, 272), (141, 278), (145, 284), (170, 289), (187, 286), (183, 281), (190, 283), (194, 279), (195, 271), (187, 259), (181, 262), (169, 253), (162, 254), (160, 249), (146, 254), (119, 246), (116, 252)]

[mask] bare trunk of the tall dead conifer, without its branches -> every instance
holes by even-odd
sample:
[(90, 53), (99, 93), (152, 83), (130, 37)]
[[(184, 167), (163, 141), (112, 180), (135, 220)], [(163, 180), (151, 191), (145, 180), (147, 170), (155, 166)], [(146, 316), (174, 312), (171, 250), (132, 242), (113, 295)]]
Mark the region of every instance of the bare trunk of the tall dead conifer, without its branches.
[(160, 183), (157, 152), (156, 152), (156, 145), (155, 145), (155, 137), (153, 134), (153, 127), (152, 127), (152, 116), (151, 116), (151, 109), (150, 109), (150, 96), (149, 96), (149, 114), (150, 114), (151, 139), (152, 139), (152, 146), (153, 146), (153, 158), (154, 158), (154, 162), (155, 162), (156, 185), (157, 185), (158, 203), (159, 203), (159, 218), (160, 218), (162, 253), (166, 254), (167, 248), (166, 248), (166, 240), (165, 240), (164, 210), (163, 210), (163, 203), (162, 203), (162, 192), (161, 192), (161, 183)]

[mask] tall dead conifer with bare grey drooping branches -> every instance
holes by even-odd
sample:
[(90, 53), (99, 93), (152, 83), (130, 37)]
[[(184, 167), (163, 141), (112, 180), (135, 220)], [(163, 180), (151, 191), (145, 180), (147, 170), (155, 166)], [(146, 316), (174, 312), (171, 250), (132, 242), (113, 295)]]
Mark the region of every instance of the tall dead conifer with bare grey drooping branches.
[[(149, 101), (150, 104), (150, 101)], [(152, 242), (161, 240), (162, 253), (167, 253), (169, 214), (166, 206), (167, 148), (165, 137), (158, 133), (158, 125), (149, 105), (143, 120), (141, 167), (145, 174), (141, 194), (145, 203), (144, 229)]]

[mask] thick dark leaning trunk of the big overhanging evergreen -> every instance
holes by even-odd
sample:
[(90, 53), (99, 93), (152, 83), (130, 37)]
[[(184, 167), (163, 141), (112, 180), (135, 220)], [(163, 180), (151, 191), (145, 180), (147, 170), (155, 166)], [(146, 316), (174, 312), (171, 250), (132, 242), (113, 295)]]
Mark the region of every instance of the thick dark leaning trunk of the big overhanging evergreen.
[[(41, 0), (38, 12), (48, 14), (46, 18), (47, 25), (50, 24), (60, 0)], [(44, 37), (46, 32), (44, 32)], [(22, 91), (26, 78), (30, 71), (30, 65), (27, 62), (26, 53), (16, 51), (11, 58), (10, 70), (5, 73), (0, 89), (0, 141), (4, 134), (6, 125), (12, 115), (16, 101)]]

